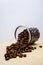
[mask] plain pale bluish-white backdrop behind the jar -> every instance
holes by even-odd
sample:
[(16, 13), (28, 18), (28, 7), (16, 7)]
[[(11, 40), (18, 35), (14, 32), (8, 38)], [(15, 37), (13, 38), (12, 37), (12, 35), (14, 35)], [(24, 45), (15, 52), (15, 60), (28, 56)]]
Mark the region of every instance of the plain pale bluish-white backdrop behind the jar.
[(0, 0), (0, 41), (14, 40), (19, 25), (37, 27), (43, 40), (43, 0)]

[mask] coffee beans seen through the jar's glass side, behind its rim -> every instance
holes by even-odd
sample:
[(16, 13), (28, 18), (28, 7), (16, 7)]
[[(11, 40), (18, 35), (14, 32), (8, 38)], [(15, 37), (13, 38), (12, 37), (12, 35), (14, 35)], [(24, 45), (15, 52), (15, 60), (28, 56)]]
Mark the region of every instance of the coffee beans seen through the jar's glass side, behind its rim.
[(29, 31), (31, 33), (31, 40), (30, 44), (36, 42), (40, 37), (40, 32), (37, 28), (29, 28)]

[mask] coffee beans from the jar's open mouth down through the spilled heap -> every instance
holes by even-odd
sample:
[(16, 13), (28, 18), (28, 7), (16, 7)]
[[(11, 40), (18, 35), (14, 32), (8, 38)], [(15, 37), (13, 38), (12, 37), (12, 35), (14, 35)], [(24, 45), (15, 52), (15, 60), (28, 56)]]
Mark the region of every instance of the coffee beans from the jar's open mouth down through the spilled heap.
[[(33, 33), (32, 33), (33, 34)], [(16, 43), (12, 43), (10, 46), (6, 47), (5, 60), (9, 60), (11, 58), (22, 58), (26, 57), (26, 52), (32, 52), (32, 50), (36, 49), (36, 47), (29, 45), (29, 33), (27, 29), (23, 30), (20, 34), (18, 34), (18, 40)]]

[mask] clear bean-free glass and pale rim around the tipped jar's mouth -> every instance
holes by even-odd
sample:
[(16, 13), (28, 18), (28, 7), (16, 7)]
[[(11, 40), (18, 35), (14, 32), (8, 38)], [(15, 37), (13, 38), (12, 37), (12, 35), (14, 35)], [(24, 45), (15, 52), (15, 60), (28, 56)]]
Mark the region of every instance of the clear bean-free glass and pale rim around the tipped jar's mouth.
[(29, 28), (28, 28), (28, 27), (25, 27), (25, 26), (22, 26), (22, 25), (18, 26), (18, 27), (15, 29), (14, 37), (15, 37), (15, 39), (17, 40), (17, 39), (18, 39), (18, 34), (19, 34), (20, 32), (22, 32), (24, 29), (27, 29), (27, 30), (28, 30), (28, 33), (29, 33), (29, 42), (30, 42), (30, 40), (31, 40), (31, 34), (30, 34), (30, 31), (29, 31)]

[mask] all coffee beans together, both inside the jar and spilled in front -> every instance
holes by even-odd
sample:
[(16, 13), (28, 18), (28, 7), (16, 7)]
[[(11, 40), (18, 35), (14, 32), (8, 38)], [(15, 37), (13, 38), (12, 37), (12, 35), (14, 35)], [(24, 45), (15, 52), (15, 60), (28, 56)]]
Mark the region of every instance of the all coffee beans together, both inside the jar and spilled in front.
[[(29, 41), (29, 31), (31, 34), (31, 40)], [(26, 57), (26, 52), (32, 52), (32, 50), (36, 49), (36, 47), (31, 46), (35, 41), (38, 40), (40, 33), (37, 28), (29, 28), (24, 29), (22, 32), (18, 34), (18, 39), (16, 43), (12, 43), (10, 46), (6, 48), (5, 60), (9, 60), (11, 58), (22, 58)]]

